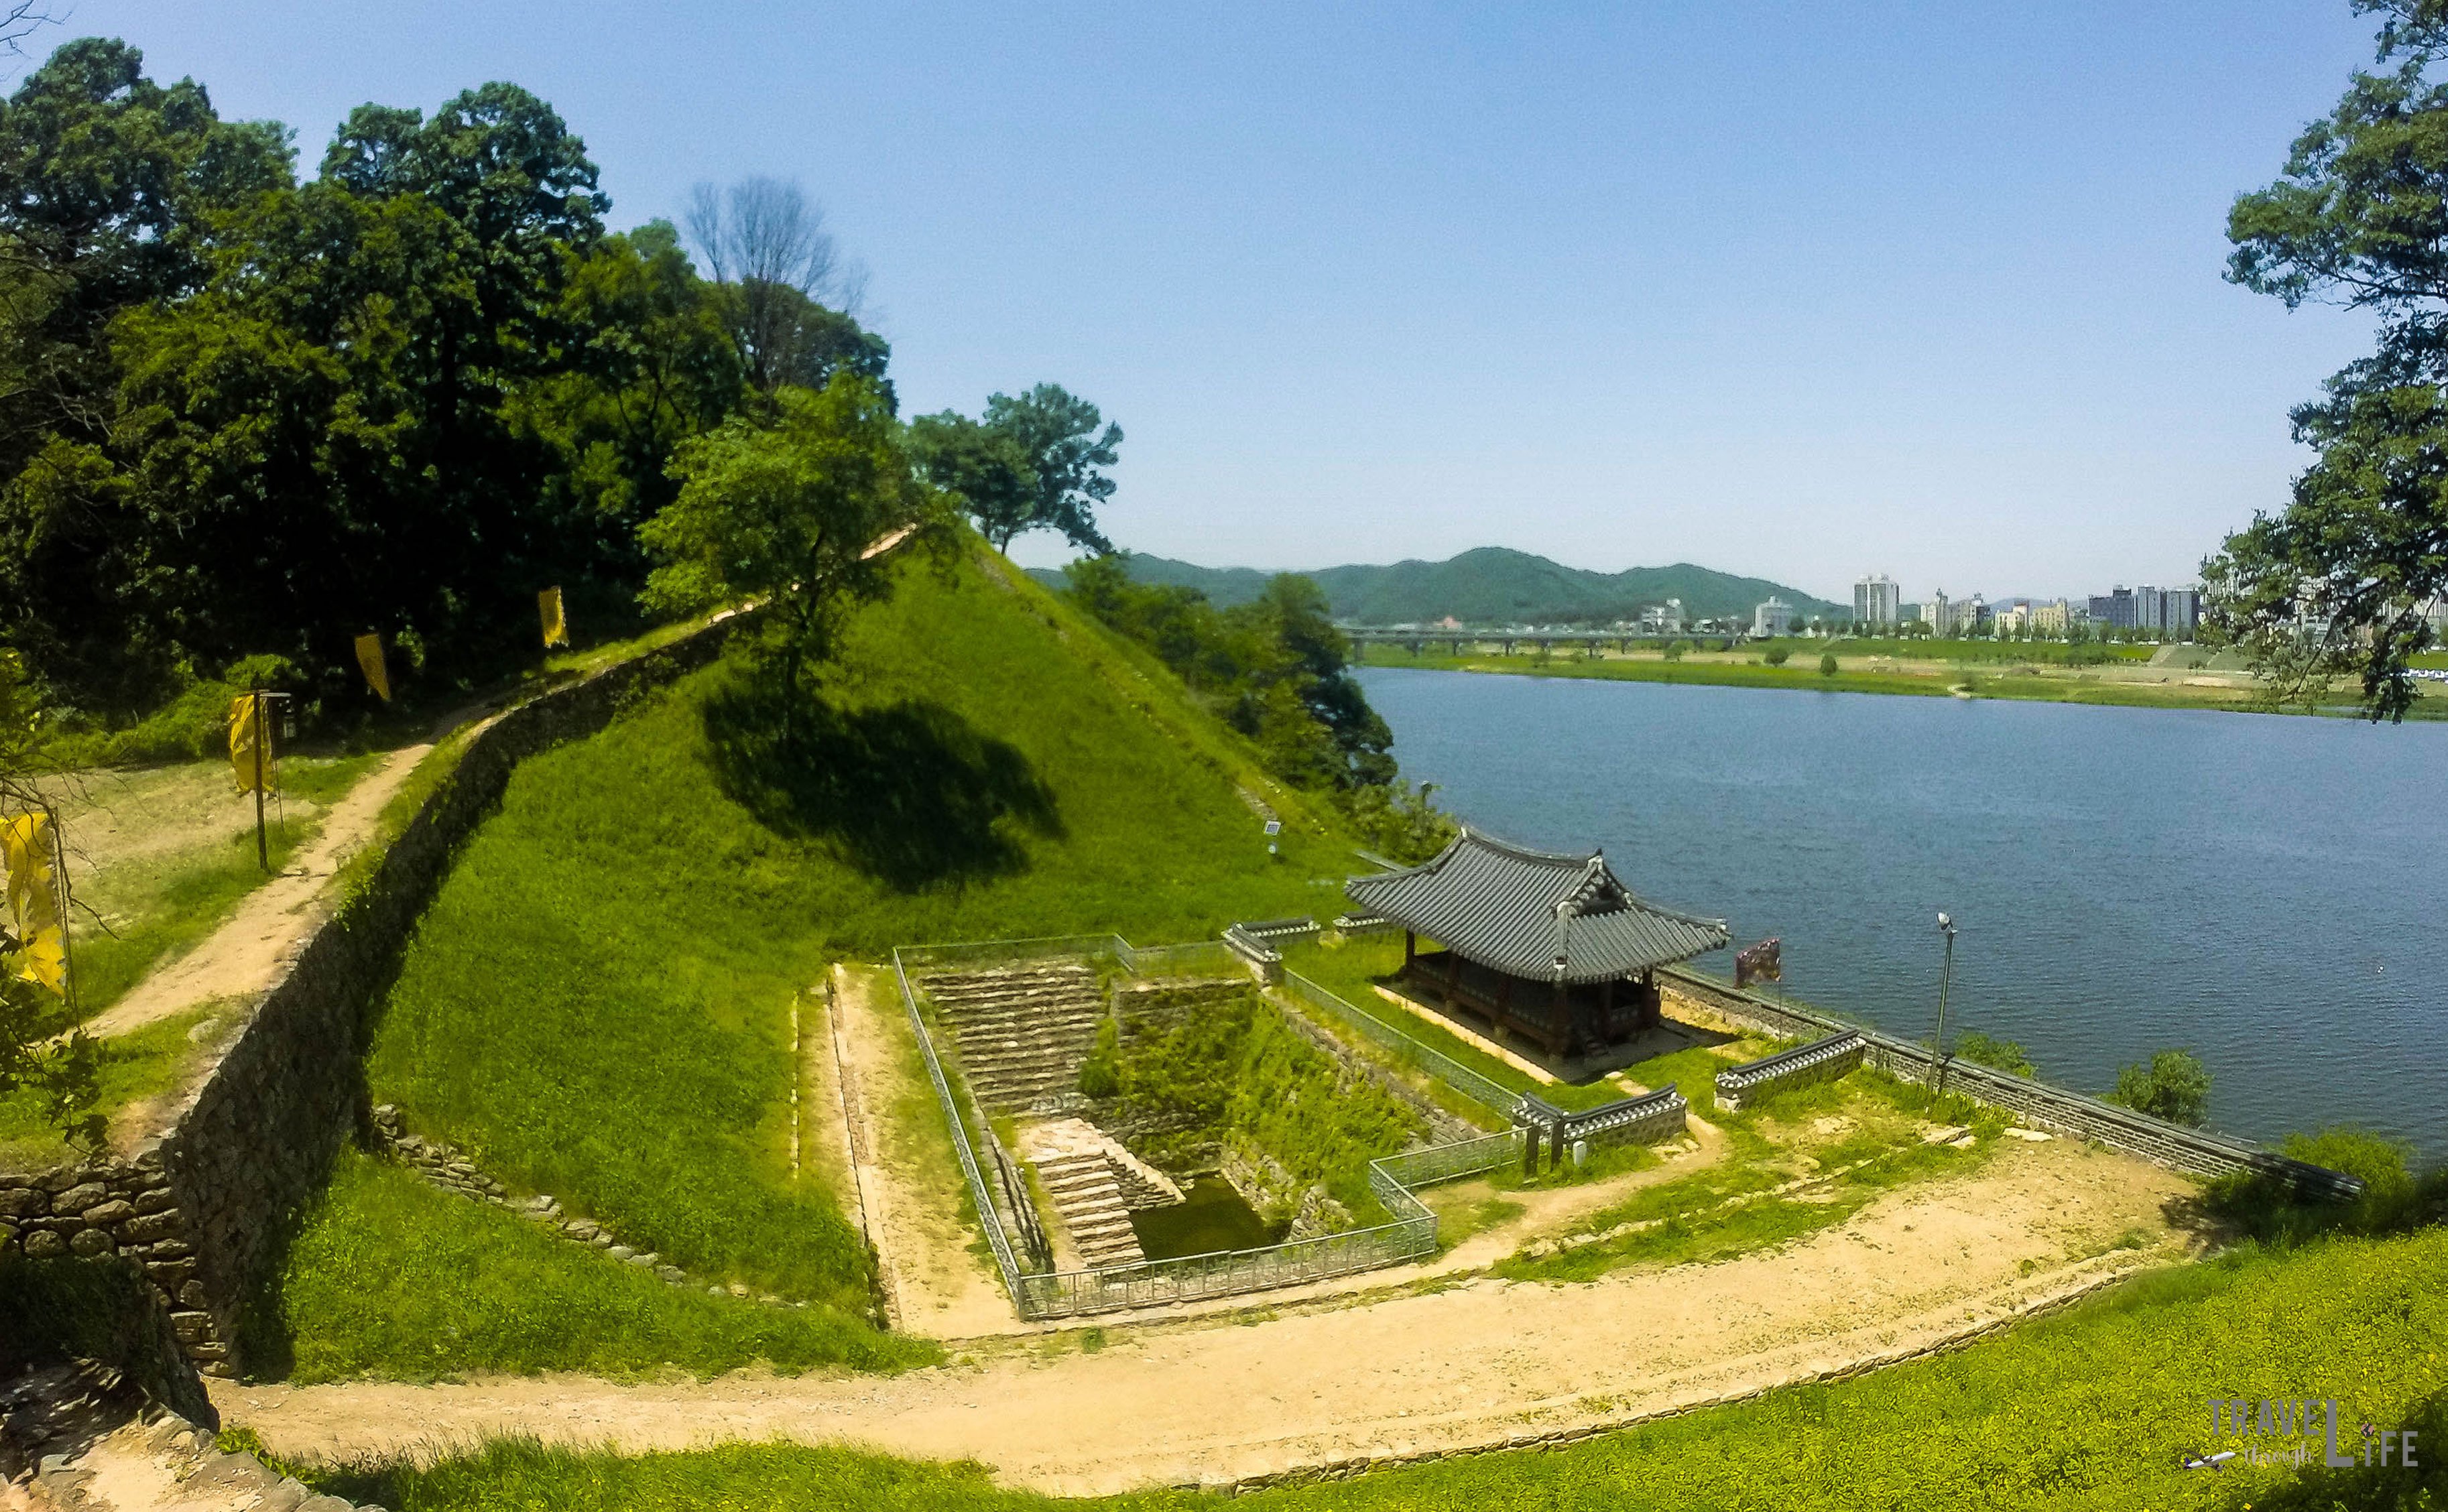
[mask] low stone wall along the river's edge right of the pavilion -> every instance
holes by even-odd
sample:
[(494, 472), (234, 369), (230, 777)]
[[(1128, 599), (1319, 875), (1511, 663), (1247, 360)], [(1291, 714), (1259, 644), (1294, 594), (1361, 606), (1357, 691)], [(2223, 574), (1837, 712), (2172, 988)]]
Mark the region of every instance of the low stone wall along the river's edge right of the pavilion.
[[(1860, 1030), (1812, 1008), (1777, 1003), (1763, 998), (1760, 993), (1738, 991), (1677, 966), (1660, 969), (1657, 986), (1667, 998), (1684, 998), (1706, 1013), (1748, 1023), (1770, 1035), (1819, 1037), (1858, 1032), (1868, 1045), (1868, 1064), (1924, 1086), (1939, 1079), (1939, 1059), (1929, 1052), (1929, 1047), (1912, 1045), (1909, 1040), (1897, 1040), (1878, 1030)], [(2051, 1133), (2108, 1145), (2110, 1150), (2125, 1150), (2127, 1155), (2140, 1155), (2142, 1160), (2169, 1169), (2198, 1177), (2255, 1172), (2277, 1177), (2306, 1196), (2335, 1201), (2350, 1201), (2362, 1194), (2362, 1182), (2357, 1177), (2306, 1165), (2301, 1160), (2286, 1160), (2284, 1155), (2257, 1150), (2242, 1140), (2230, 1140), (2228, 1135), (2184, 1128), (2181, 1123), (2103, 1103), (2100, 1099), (2066, 1091), (2064, 1086), (2049, 1086), (2047, 1081), (2034, 1081), (2029, 1077), (2015, 1077), (2012, 1072), (1949, 1057), (1944, 1079), (1946, 1091), (2015, 1113), (2032, 1128), (2047, 1128)]]

